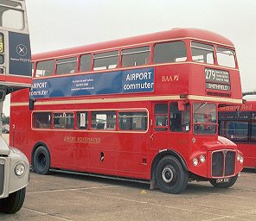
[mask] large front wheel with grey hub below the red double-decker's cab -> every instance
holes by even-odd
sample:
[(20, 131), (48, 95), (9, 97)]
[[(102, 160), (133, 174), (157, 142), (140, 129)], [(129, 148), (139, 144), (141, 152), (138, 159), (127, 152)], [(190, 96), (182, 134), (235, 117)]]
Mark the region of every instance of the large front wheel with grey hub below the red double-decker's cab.
[(164, 156), (157, 164), (157, 185), (164, 193), (182, 193), (188, 186), (189, 173), (176, 157)]

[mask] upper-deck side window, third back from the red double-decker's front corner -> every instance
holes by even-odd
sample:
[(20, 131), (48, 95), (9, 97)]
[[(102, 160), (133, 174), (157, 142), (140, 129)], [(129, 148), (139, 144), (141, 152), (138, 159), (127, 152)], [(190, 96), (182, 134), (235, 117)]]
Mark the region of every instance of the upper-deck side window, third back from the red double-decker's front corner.
[(93, 70), (113, 69), (118, 66), (118, 51), (94, 54)]

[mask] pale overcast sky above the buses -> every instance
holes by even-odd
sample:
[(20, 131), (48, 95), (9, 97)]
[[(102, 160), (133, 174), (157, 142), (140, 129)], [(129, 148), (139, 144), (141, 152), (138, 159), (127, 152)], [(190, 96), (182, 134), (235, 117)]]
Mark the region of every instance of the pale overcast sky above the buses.
[[(242, 90), (256, 90), (255, 0), (26, 2), (32, 54), (170, 28), (203, 28), (224, 35), (234, 42)], [(6, 103), (5, 112), (8, 112), (8, 101)]]

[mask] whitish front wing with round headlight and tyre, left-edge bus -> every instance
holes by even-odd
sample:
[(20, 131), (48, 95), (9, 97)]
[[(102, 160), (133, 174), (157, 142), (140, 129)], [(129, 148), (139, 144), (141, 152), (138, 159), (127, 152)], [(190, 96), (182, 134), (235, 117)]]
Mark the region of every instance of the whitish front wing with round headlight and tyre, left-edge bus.
[(0, 212), (22, 208), (29, 183), (29, 161), (16, 148), (9, 148), (0, 136)]

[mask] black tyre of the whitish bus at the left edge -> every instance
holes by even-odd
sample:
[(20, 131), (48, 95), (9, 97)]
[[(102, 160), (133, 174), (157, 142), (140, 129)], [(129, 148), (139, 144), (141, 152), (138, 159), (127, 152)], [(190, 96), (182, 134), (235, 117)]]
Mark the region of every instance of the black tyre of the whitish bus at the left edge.
[(0, 212), (9, 214), (18, 212), (22, 208), (25, 195), (26, 187), (16, 191), (15, 193), (10, 193), (7, 198), (0, 199)]

